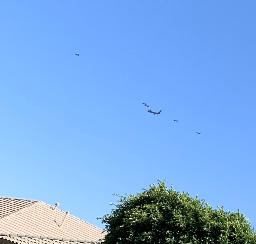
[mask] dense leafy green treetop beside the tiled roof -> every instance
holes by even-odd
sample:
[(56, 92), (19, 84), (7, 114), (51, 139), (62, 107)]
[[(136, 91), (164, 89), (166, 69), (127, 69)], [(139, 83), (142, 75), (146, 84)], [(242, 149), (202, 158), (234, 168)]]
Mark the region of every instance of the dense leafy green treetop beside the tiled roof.
[(184, 191), (168, 189), (166, 181), (136, 196), (118, 197), (111, 213), (101, 218), (105, 244), (256, 244), (254, 228), (239, 210), (213, 209)]

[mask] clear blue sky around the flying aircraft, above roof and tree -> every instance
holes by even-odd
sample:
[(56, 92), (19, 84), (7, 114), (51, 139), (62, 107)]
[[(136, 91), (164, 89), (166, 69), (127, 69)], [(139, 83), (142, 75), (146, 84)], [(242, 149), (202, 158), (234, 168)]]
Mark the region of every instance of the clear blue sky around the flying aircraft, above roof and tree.
[(104, 227), (113, 193), (158, 177), (256, 226), (255, 11), (254, 0), (1, 1), (1, 195)]

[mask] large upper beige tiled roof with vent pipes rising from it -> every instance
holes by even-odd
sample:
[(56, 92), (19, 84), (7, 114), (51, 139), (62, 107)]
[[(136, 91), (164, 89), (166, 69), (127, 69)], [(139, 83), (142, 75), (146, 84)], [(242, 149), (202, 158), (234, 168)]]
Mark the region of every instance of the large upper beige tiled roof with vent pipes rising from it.
[[(0, 217), (0, 232), (86, 239), (94, 242), (105, 236), (102, 229), (70, 214), (66, 216), (59, 208), (53, 210), (51, 205), (44, 202), (21, 199), (13, 199), (13, 202), (10, 202), (10, 199), (0, 199), (4, 202), (0, 205), (0, 212), (7, 212), (6, 209), (9, 209), (9, 214)], [(12, 204), (15, 205), (16, 211)], [(65, 216), (65, 222), (60, 227)]]

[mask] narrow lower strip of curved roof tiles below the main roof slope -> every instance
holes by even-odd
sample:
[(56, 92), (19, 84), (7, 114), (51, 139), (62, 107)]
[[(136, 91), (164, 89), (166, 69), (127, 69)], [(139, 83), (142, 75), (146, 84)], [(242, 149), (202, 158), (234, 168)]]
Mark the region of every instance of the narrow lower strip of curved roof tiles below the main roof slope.
[[(30, 236), (14, 233), (0, 233), (0, 243), (6, 243), (3, 240), (17, 244), (88, 244), (97, 243), (90, 240), (56, 238), (49, 236)], [(99, 242), (98, 242), (99, 243)], [(7, 244), (7, 243), (6, 243)]]

